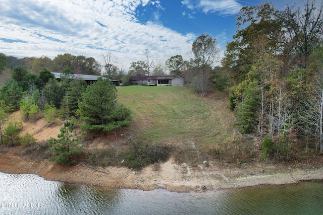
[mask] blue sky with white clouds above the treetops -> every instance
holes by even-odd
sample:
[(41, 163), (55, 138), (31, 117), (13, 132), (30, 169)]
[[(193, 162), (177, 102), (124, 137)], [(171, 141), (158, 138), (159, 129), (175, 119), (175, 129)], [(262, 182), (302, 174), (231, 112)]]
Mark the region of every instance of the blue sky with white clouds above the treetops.
[[(132, 61), (165, 63), (189, 59), (201, 34), (216, 37), (221, 56), (237, 30), (236, 17), (258, 0), (2, 0), (0, 52), (17, 57), (54, 58), (70, 53), (94, 57), (111, 52), (128, 71)], [(273, 0), (284, 9), (289, 0)]]

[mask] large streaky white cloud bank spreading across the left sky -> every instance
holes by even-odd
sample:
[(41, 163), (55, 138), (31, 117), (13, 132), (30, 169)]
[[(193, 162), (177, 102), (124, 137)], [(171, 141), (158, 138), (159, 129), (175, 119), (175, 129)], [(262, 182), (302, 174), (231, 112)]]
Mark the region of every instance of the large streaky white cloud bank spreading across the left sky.
[(149, 4), (163, 9), (159, 1), (150, 0), (4, 0), (0, 38), (5, 40), (0, 39), (0, 52), (51, 58), (71, 53), (101, 61), (102, 53), (110, 50), (126, 70), (131, 61), (141, 60), (145, 48), (161, 61), (185, 54), (195, 35), (138, 22), (138, 7)]

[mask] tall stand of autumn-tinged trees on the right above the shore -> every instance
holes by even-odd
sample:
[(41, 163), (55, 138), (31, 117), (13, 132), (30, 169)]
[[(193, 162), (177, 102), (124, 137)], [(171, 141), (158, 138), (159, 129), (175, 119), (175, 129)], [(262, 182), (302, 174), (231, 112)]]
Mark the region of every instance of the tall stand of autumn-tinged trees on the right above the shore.
[(322, 13), (311, 0), (240, 10), (222, 69), (239, 130), (261, 142), (263, 157), (323, 152)]

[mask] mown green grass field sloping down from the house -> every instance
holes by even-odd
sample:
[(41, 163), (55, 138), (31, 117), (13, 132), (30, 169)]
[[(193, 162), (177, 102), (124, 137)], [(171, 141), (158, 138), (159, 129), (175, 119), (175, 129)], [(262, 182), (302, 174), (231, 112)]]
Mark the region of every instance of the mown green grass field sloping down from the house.
[(133, 112), (130, 130), (140, 138), (188, 150), (195, 157), (203, 150), (225, 150), (234, 141), (234, 114), (222, 92), (201, 98), (187, 87), (129, 86), (117, 90), (118, 102)]

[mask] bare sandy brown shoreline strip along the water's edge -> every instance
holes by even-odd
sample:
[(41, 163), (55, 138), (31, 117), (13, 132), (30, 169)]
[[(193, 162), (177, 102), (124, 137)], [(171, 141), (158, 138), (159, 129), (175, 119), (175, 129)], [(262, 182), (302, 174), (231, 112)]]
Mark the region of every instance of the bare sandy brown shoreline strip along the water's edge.
[(82, 164), (63, 167), (48, 160), (30, 160), (10, 153), (0, 154), (0, 172), (36, 174), (47, 180), (81, 183), (111, 188), (190, 192), (240, 188), (262, 184), (292, 184), (304, 180), (323, 180), (323, 167), (285, 167), (263, 163), (208, 167), (177, 165), (172, 161), (141, 171), (124, 167), (93, 168)]

